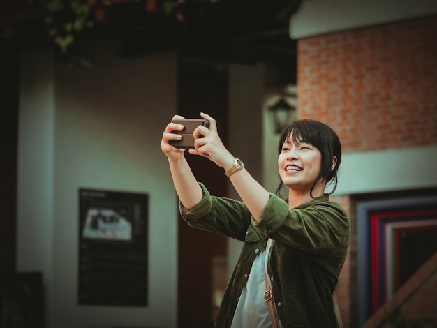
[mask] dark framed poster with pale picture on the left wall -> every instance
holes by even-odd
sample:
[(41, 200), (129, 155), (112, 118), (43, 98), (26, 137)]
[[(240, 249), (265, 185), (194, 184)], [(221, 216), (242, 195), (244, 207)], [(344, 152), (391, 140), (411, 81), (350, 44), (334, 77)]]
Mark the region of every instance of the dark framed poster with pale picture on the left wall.
[(149, 196), (79, 189), (79, 305), (147, 306)]

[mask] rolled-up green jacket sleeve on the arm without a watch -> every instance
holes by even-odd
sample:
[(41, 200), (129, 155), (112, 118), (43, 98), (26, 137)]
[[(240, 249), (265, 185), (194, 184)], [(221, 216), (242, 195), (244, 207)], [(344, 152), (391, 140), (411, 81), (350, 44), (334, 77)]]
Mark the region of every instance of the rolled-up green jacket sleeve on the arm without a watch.
[(192, 228), (218, 232), (225, 236), (244, 241), (251, 224), (251, 213), (243, 202), (226, 197), (210, 195), (200, 183), (203, 197), (193, 209), (186, 209), (179, 202), (182, 219)]

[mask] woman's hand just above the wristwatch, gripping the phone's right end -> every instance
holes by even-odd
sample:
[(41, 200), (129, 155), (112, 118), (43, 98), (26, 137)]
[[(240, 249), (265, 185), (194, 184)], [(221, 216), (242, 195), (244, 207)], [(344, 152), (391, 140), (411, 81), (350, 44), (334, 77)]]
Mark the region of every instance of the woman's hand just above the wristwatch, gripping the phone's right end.
[(195, 139), (194, 149), (189, 149), (189, 153), (206, 157), (227, 170), (232, 166), (234, 156), (230, 154), (221, 141), (217, 132), (216, 120), (205, 113), (200, 113), (200, 117), (209, 121), (209, 128), (198, 126), (195, 129), (193, 133)]

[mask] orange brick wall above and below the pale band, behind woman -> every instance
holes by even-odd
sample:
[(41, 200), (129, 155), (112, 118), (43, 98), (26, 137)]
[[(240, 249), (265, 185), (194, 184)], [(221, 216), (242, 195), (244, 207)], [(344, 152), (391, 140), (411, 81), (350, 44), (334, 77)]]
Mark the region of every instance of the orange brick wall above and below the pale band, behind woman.
[[(437, 17), (298, 41), (299, 118), (324, 121), (343, 154), (437, 144)], [(345, 327), (356, 312), (356, 218), (336, 292)]]

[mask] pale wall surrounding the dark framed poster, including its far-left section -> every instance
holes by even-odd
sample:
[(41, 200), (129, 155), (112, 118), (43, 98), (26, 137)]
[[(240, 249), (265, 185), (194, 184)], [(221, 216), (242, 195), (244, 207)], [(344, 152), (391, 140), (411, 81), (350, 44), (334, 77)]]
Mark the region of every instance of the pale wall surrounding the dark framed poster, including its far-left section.
[[(43, 271), (48, 328), (177, 327), (177, 200), (159, 142), (176, 111), (176, 59), (117, 57), (92, 68), (22, 59), (18, 271)], [(149, 194), (149, 306), (78, 306), (78, 188)]]

